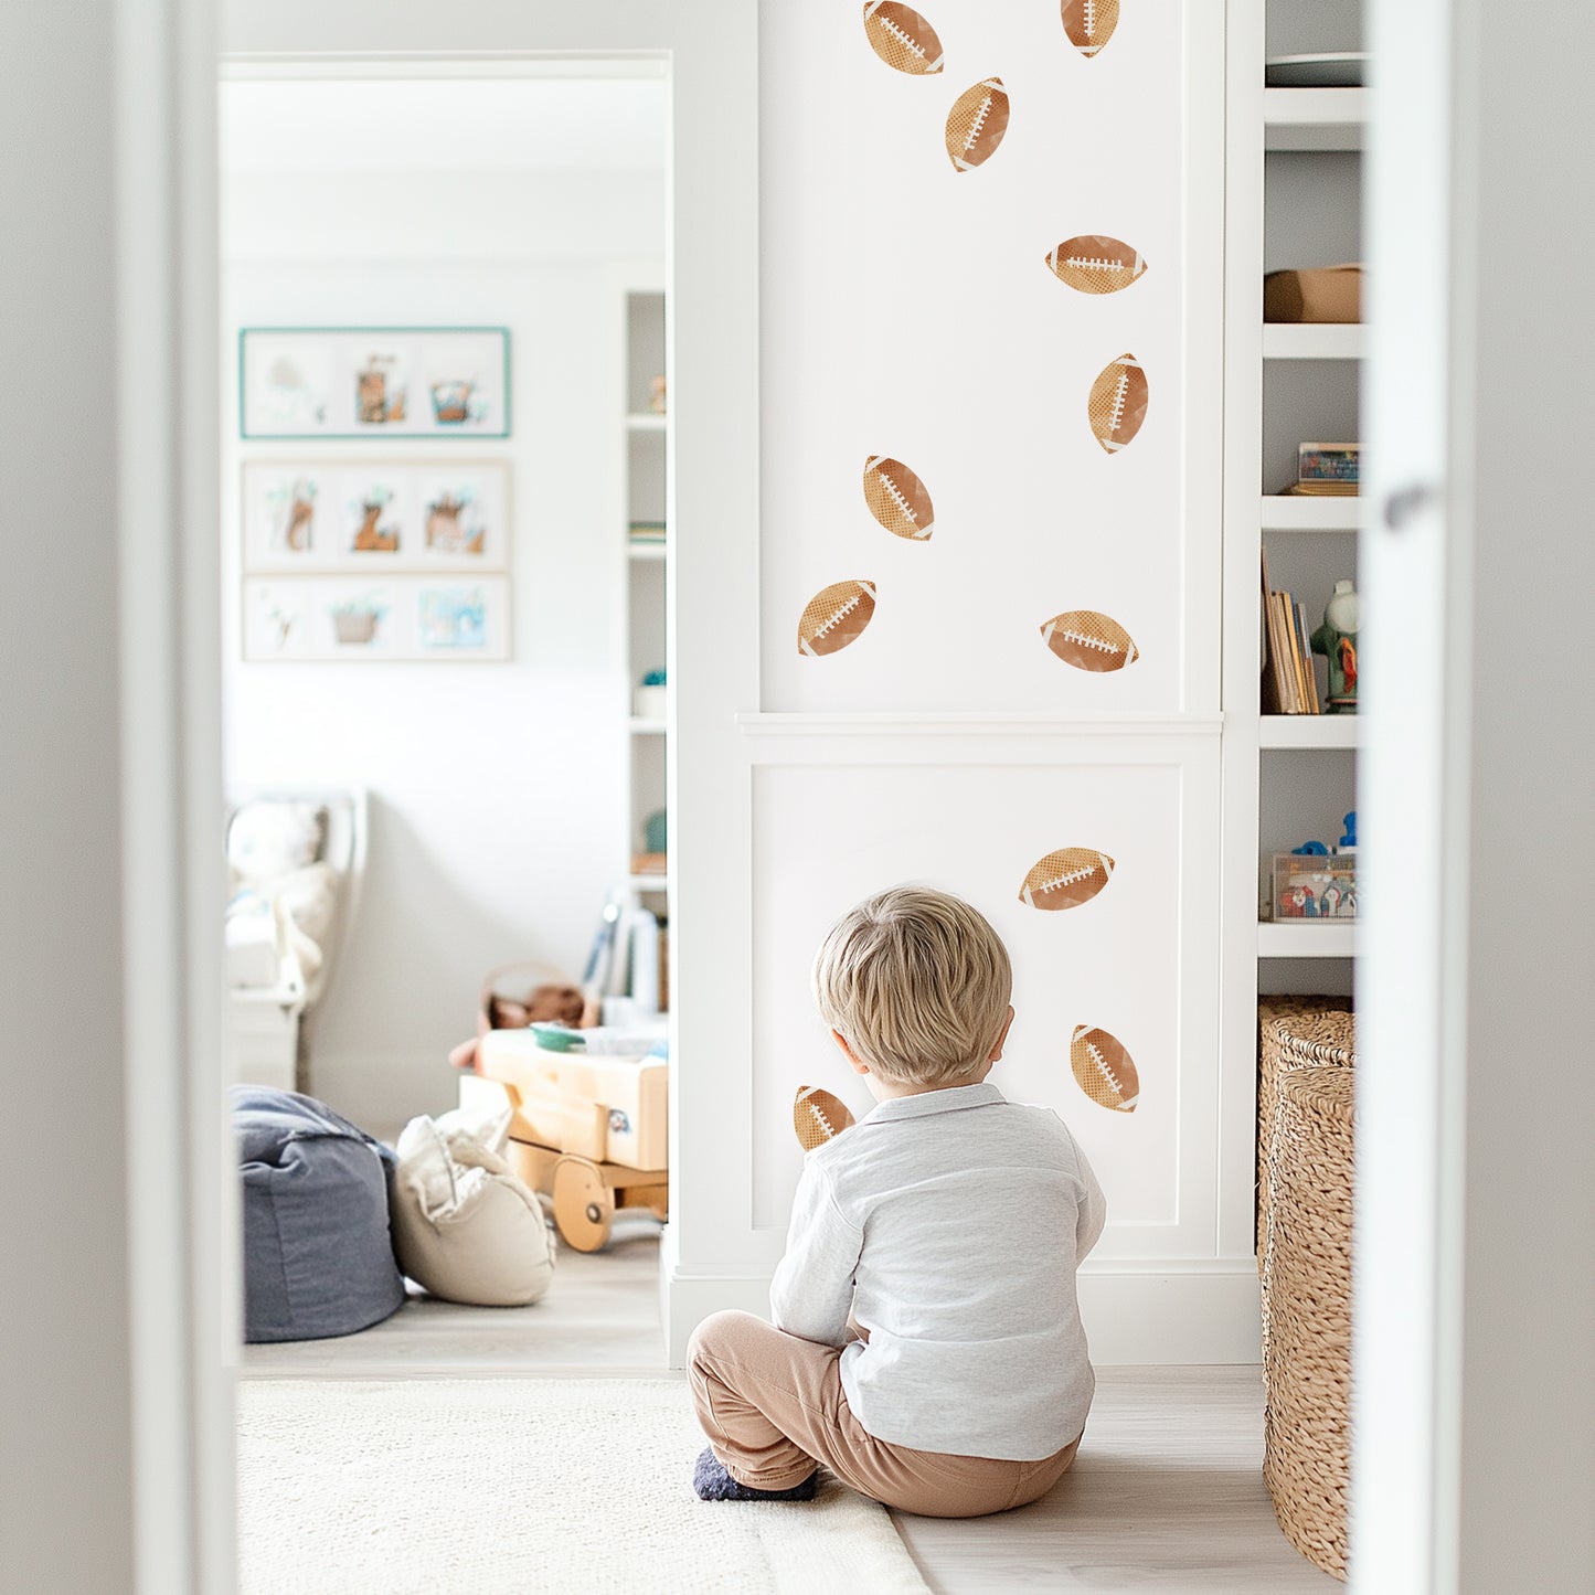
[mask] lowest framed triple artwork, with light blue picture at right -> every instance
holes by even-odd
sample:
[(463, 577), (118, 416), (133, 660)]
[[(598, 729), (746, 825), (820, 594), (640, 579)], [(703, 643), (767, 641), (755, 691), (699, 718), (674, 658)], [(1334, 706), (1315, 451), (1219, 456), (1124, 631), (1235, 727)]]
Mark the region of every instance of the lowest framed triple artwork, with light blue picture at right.
[(247, 576), (254, 664), (509, 659), (506, 576)]

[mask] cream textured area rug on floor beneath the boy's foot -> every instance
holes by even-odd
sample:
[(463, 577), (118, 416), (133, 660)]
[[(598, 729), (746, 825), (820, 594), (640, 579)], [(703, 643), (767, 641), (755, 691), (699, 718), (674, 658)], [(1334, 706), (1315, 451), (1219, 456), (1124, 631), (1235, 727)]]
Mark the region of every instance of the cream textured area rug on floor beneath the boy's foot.
[(885, 1510), (699, 1501), (679, 1380), (246, 1380), (242, 1595), (927, 1595)]

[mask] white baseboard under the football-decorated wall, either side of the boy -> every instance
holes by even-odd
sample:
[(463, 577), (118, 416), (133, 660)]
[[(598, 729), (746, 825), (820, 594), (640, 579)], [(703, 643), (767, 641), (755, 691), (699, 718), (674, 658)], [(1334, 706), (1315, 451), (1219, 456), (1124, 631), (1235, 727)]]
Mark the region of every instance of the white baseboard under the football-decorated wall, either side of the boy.
[[(769, 1316), (767, 1271), (684, 1268), (665, 1228), (659, 1249), (660, 1316), (673, 1369), (692, 1330), (727, 1308)], [(1099, 1369), (1258, 1361), (1260, 1305), (1250, 1257), (1104, 1263), (1080, 1274), (1080, 1314)]]

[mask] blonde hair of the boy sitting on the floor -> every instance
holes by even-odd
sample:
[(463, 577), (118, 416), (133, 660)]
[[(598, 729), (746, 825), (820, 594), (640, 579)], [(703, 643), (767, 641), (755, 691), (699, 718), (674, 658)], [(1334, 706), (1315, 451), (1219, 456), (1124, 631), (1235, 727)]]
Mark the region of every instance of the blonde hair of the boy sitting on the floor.
[(872, 1070), (939, 1086), (987, 1062), (1013, 970), (986, 917), (928, 887), (893, 887), (844, 914), (813, 959), (813, 1000)]

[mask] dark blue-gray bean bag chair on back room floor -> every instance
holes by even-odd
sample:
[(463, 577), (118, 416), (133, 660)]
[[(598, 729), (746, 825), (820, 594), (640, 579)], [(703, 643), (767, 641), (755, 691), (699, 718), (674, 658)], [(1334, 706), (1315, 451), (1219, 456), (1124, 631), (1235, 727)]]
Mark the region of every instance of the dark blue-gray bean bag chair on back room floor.
[(404, 1303), (388, 1231), (394, 1153), (313, 1097), (236, 1086), (244, 1340), (352, 1335)]

